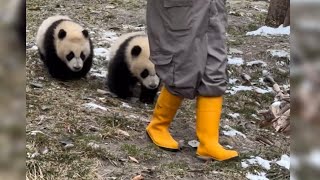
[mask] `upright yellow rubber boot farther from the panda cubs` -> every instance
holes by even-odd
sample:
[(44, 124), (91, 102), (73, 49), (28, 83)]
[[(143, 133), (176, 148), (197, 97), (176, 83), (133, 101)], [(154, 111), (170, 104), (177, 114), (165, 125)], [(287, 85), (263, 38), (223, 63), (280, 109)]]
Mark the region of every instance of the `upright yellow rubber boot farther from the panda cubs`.
[(238, 156), (237, 151), (226, 150), (219, 144), (219, 124), (222, 97), (197, 99), (197, 136), (200, 144), (197, 155), (201, 159), (224, 161)]

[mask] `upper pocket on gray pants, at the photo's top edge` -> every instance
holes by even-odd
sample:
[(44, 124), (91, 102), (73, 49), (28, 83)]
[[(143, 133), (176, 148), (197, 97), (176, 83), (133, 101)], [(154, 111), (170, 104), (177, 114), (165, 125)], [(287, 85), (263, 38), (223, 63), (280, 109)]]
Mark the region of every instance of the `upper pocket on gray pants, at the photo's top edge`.
[(171, 30), (188, 30), (192, 27), (193, 0), (164, 0), (165, 25)]

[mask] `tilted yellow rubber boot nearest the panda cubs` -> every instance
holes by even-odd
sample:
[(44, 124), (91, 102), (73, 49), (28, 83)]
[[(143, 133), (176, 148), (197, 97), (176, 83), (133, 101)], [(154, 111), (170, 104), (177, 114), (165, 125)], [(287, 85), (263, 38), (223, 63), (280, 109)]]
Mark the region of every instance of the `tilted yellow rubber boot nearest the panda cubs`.
[(171, 94), (165, 87), (161, 90), (153, 111), (153, 117), (146, 128), (150, 139), (161, 148), (179, 149), (179, 143), (169, 133), (169, 126), (181, 105), (182, 99), (182, 97)]

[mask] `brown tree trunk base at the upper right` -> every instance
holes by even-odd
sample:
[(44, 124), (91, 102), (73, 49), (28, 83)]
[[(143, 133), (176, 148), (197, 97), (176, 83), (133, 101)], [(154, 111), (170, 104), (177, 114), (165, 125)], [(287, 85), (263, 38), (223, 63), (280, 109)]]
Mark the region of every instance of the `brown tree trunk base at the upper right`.
[(290, 25), (290, 0), (271, 0), (266, 25), (279, 27)]

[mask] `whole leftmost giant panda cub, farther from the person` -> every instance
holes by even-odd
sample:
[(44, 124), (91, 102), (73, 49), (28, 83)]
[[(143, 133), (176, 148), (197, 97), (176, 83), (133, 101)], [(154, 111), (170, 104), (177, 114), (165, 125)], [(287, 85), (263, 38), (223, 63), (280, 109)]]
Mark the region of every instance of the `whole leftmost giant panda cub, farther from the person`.
[(40, 58), (54, 78), (80, 79), (92, 66), (93, 46), (88, 31), (67, 16), (44, 20), (36, 42)]

